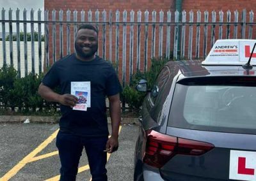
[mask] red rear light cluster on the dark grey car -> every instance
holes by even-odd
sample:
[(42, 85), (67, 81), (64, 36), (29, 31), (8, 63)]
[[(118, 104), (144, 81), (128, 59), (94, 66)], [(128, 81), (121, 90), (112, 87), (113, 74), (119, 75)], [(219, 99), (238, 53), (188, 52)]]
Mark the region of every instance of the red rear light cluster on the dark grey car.
[(146, 134), (143, 162), (156, 168), (164, 166), (176, 154), (201, 156), (214, 148), (211, 143), (168, 136), (153, 130), (146, 131)]

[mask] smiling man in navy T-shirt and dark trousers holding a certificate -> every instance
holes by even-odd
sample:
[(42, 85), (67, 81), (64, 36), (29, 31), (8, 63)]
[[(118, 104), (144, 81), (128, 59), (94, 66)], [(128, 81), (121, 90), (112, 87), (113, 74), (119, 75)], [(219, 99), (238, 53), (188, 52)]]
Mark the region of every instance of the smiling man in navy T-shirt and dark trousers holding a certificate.
[[(76, 54), (55, 62), (44, 76), (38, 92), (47, 101), (60, 103), (60, 131), (56, 138), (61, 161), (60, 180), (76, 180), (83, 148), (86, 150), (92, 180), (108, 180), (107, 152), (118, 148), (121, 91), (115, 69), (95, 55), (98, 49), (98, 31), (90, 24), (81, 25), (76, 34)], [(86, 106), (74, 110), (79, 96), (71, 94), (72, 82), (86, 82)], [(89, 84), (88, 84), (89, 83)], [(52, 89), (60, 86), (61, 94)], [(79, 89), (82, 89), (78, 86)], [(83, 94), (83, 90), (80, 94)], [(108, 138), (106, 96), (109, 99), (112, 134)], [(90, 102), (90, 103), (88, 103)]]

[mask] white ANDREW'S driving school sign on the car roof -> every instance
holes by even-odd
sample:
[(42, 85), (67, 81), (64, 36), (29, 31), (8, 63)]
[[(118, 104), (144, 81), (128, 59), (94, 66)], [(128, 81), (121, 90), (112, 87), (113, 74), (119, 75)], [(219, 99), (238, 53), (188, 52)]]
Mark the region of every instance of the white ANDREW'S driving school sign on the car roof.
[[(202, 65), (243, 65), (248, 62), (256, 40), (233, 39), (217, 40)], [(252, 65), (256, 65), (256, 52), (253, 52)]]

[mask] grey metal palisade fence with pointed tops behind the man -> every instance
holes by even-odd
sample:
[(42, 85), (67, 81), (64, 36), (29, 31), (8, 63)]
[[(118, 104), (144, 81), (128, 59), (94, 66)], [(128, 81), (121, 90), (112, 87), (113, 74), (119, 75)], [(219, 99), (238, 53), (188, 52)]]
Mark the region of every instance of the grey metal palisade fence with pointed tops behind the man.
[[(131, 80), (136, 71), (147, 71), (152, 57), (167, 59), (200, 59), (206, 57), (217, 39), (255, 38), (253, 36), (253, 11), (37, 11), (34, 20), (34, 10), (30, 11), (28, 20), (27, 10), (23, 11), (20, 20), (20, 10), (16, 10), (16, 19), (12, 18), (12, 10), (1, 11), (1, 30), (3, 41), (3, 63), (17, 61), (20, 71), (20, 59), (24, 59), (25, 75), (28, 64), (35, 73), (35, 61), (38, 61), (38, 71), (57, 61), (60, 57), (74, 52), (74, 37), (79, 24), (90, 23), (99, 29), (99, 54), (104, 59), (115, 63), (116, 71), (122, 77), (123, 86)], [(187, 15), (188, 14), (188, 15)], [(196, 18), (195, 18), (196, 16)], [(217, 20), (218, 19), (218, 20)], [(28, 52), (26, 34), (30, 24), (31, 52)], [(13, 40), (6, 47), (6, 26), (12, 37), (13, 26), (16, 26), (17, 52), (13, 52)], [(24, 29), (24, 55), (20, 55), (20, 25)], [(42, 58), (42, 40), (38, 39), (38, 59), (35, 59), (35, 25), (38, 34), (45, 35), (44, 59)], [(44, 29), (42, 29), (44, 25)], [(6, 55), (10, 48), (10, 55)], [(17, 54), (17, 59), (13, 59)], [(28, 59), (31, 54), (31, 59)]]

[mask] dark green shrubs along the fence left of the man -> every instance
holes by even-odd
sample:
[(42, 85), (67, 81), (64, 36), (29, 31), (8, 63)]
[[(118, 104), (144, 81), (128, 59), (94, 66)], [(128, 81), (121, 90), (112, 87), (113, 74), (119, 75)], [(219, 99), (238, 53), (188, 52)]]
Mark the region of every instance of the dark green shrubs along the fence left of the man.
[[(49, 115), (57, 112), (56, 103), (47, 103), (38, 94), (38, 87), (44, 73), (28, 75), (20, 78), (17, 70), (8, 64), (0, 69), (0, 103), (1, 113), (12, 113), (18, 109), (18, 113), (35, 114), (36, 112)], [(59, 89), (54, 91), (60, 92)], [(46, 114), (45, 114), (46, 113)]]

